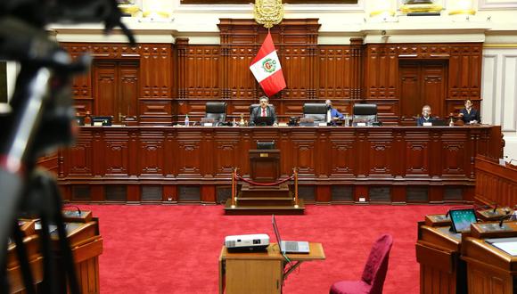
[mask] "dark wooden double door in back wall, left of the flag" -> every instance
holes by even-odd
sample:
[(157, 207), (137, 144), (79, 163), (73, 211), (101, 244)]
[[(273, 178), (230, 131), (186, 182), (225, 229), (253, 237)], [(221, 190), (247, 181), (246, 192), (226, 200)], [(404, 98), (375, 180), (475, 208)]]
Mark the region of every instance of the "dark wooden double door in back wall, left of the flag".
[(113, 124), (138, 115), (138, 62), (97, 61), (93, 72), (93, 115), (113, 116)]

